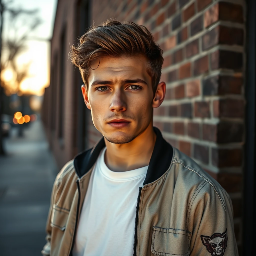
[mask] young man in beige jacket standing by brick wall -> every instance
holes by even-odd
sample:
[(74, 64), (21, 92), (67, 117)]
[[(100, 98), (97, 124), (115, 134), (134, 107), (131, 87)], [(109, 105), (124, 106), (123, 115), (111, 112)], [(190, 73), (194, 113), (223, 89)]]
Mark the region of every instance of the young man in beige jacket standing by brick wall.
[(108, 21), (71, 58), (103, 137), (58, 174), (42, 254), (238, 255), (229, 195), (153, 127), (166, 85), (150, 31)]

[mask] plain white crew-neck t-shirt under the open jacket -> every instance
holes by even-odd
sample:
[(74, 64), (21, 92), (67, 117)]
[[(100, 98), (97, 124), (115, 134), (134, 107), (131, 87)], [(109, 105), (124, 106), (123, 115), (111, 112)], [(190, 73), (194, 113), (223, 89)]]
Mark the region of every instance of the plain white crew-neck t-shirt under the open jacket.
[(73, 256), (133, 254), (139, 187), (148, 166), (113, 172), (101, 151), (90, 177), (77, 227)]

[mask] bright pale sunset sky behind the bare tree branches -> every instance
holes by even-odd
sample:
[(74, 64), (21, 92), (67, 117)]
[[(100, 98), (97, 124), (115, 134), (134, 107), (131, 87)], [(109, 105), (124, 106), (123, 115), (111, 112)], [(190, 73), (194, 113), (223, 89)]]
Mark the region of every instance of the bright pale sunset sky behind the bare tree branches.
[[(29, 77), (20, 85), (20, 90), (37, 95), (42, 95), (44, 88), (49, 86), (50, 79), (50, 41), (55, 19), (57, 0), (14, 0), (15, 6), (24, 9), (39, 9), (39, 17), (42, 19), (37, 29), (33, 32), (33, 38), (43, 40), (28, 40), (27, 50), (17, 58), (17, 63), (22, 65), (31, 61)], [(3, 31), (3, 37), (7, 29)], [(2, 75), (2, 74), (1, 74)], [(8, 78), (8, 72), (4, 77)]]

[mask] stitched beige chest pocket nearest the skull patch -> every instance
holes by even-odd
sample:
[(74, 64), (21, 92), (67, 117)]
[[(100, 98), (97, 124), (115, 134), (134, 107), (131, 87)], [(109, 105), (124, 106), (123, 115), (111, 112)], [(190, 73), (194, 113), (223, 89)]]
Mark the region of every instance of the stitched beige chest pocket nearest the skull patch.
[(151, 251), (154, 255), (188, 256), (190, 238), (185, 230), (153, 227)]

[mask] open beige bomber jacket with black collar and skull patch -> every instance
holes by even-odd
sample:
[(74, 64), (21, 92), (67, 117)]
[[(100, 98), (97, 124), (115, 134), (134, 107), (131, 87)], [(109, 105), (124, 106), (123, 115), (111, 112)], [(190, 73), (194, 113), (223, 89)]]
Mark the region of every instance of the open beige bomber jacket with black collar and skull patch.
[[(156, 127), (154, 131), (156, 143), (138, 191), (133, 255), (237, 256), (229, 195), (191, 158), (167, 143)], [(43, 255), (72, 256), (82, 202), (104, 146), (102, 138), (57, 175)]]

